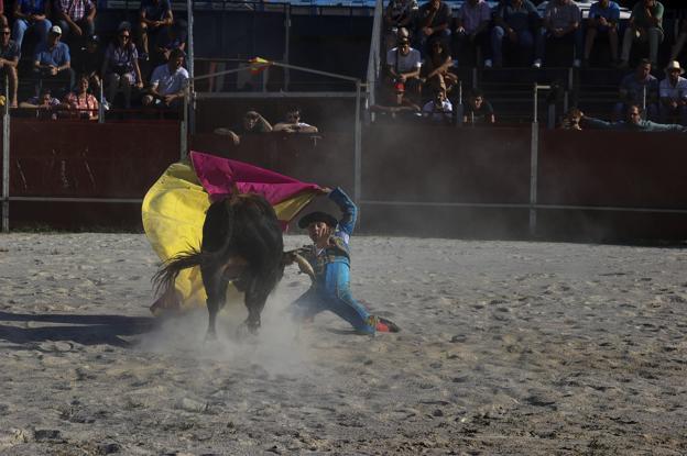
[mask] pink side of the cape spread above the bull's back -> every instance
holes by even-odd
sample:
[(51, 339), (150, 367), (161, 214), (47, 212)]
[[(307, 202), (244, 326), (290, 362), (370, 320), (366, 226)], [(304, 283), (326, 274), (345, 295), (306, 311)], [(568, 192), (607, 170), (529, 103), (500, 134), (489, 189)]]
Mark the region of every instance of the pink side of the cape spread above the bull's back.
[(262, 194), (272, 205), (302, 191), (319, 189), (315, 183), (301, 182), (279, 173), (201, 152), (190, 152), (190, 160), (203, 188), (214, 200), (230, 194), (233, 182), (241, 193)]

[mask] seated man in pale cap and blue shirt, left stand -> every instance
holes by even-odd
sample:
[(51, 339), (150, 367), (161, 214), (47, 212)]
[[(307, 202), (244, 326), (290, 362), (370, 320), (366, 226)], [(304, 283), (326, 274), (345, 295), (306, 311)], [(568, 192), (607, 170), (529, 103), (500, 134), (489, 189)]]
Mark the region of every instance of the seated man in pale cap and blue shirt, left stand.
[(62, 29), (53, 25), (47, 34), (47, 41), (40, 43), (35, 49), (33, 58), (34, 76), (39, 87), (51, 86), (59, 92), (74, 88), (74, 69), (72, 69), (72, 56), (69, 46), (62, 43)]

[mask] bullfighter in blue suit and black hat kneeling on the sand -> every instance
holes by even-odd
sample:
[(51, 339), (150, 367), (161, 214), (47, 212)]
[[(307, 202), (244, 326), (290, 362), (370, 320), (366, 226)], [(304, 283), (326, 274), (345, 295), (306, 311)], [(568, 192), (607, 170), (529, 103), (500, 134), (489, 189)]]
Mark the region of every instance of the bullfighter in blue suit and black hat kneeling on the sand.
[(400, 331), (389, 320), (371, 314), (353, 298), (350, 289), (349, 243), (358, 209), (339, 187), (324, 189), (323, 192), (339, 207), (342, 215), (337, 220), (334, 215), (317, 211), (298, 221), (298, 227), (307, 230), (313, 241), (313, 245), (298, 251), (313, 269), (313, 285), (294, 301), (294, 316), (298, 321), (309, 322), (318, 313), (328, 310), (361, 334)]

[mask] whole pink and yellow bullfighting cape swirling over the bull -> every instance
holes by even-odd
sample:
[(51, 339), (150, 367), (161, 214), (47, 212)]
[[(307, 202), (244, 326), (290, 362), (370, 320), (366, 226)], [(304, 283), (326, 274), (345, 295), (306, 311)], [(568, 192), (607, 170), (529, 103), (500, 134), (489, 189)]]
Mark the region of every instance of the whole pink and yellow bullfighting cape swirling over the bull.
[[(212, 201), (230, 194), (233, 185), (241, 193), (262, 194), (284, 229), (319, 189), (246, 163), (192, 152), (188, 162), (171, 165), (143, 199), (143, 230), (160, 259), (200, 249), (205, 212)], [(174, 290), (166, 290), (151, 311), (183, 312), (205, 307), (206, 299), (200, 270), (194, 267), (179, 274)], [(229, 287), (227, 300), (240, 301), (236, 288)]]

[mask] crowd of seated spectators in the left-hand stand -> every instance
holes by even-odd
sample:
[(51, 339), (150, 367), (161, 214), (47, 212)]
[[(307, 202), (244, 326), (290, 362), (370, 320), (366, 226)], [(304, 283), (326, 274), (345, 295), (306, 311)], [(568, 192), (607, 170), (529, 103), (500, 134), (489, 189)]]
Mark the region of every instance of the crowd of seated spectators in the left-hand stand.
[(133, 24), (115, 30), (97, 30), (96, 15), (94, 0), (15, 0), (9, 20), (0, 14), (0, 76), (11, 108), (96, 120), (100, 104), (179, 105), (188, 85), (187, 32), (170, 0), (142, 0)]

